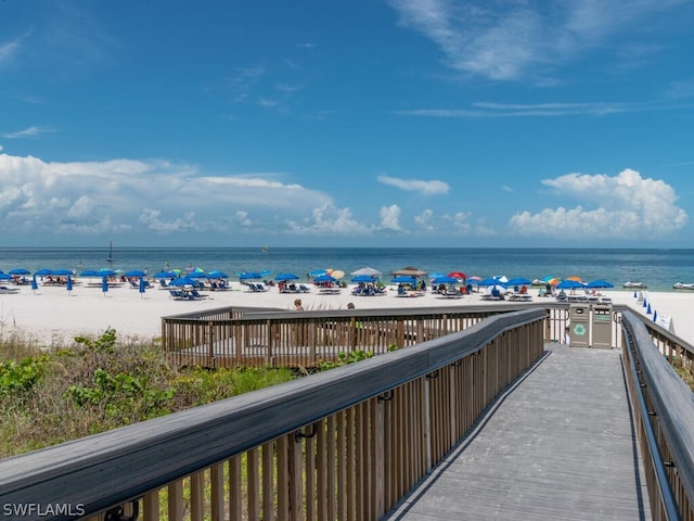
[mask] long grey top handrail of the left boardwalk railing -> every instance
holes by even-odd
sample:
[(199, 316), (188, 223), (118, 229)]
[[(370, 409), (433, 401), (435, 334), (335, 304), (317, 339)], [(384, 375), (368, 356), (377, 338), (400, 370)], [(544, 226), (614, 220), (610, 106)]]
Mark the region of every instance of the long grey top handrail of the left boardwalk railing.
[(360, 364), (1, 460), (0, 503), (40, 497), (103, 510), (385, 393), (544, 317), (544, 309), (498, 315)]

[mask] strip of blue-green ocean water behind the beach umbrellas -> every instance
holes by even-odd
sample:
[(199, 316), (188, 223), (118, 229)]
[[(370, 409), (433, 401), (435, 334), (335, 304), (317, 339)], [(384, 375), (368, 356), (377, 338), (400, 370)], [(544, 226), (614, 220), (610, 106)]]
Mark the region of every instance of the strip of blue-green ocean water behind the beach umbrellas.
[[(694, 282), (694, 250), (648, 249), (499, 249), (499, 247), (115, 247), (108, 249), (0, 247), (0, 270), (26, 268), (147, 269), (201, 267), (234, 276), (242, 271), (287, 271), (306, 279), (317, 269), (340, 269), (347, 274), (370, 266), (384, 274), (413, 266), (427, 272), (463, 271), (483, 278), (498, 275), (526, 277), (579, 276), (583, 281), (604, 279), (616, 288), (640, 281), (653, 291), (674, 291), (678, 281)], [(272, 278), (270, 275), (268, 278)], [(682, 291), (682, 290), (679, 290)], [(686, 290), (685, 290), (686, 291)], [(691, 291), (691, 290), (690, 290)]]

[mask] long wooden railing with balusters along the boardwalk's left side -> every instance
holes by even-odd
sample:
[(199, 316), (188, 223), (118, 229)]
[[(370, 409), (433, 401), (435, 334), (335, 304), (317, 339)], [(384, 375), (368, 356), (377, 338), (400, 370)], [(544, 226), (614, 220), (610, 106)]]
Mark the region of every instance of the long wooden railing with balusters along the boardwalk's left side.
[[(506, 313), (447, 336), (436, 322), (439, 338), (406, 350), (2, 460), (0, 505), (94, 519), (376, 520), (542, 355), (545, 316)], [(396, 322), (394, 338), (424, 323)]]

